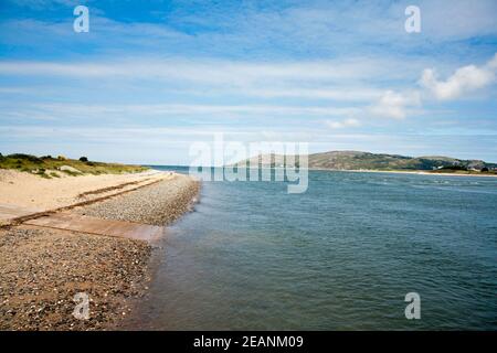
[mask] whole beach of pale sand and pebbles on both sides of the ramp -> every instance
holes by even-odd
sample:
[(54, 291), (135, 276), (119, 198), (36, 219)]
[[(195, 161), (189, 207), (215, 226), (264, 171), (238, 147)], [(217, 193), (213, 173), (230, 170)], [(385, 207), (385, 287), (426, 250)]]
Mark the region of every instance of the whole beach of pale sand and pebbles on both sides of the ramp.
[[(136, 224), (166, 225), (191, 208), (199, 182), (187, 175), (82, 175), (45, 180), (0, 170), (0, 204)], [(83, 204), (83, 205), (81, 205)], [(77, 206), (80, 205), (80, 206)], [(15, 223), (0, 228), (0, 330), (108, 330), (147, 290), (154, 245), (137, 239)], [(75, 293), (89, 319), (73, 317)]]

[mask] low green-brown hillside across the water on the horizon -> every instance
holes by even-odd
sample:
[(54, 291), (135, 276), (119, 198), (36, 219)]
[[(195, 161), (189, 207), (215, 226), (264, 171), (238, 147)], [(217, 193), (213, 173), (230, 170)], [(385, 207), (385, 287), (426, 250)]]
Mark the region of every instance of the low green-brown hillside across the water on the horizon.
[[(252, 167), (262, 162), (262, 167), (283, 167), (285, 158), (281, 154), (263, 154), (240, 161), (237, 165), (250, 163)], [(330, 151), (313, 153), (308, 157), (310, 169), (329, 170), (466, 170), (497, 168), (496, 163), (482, 160), (459, 160), (448, 157), (405, 157), (399, 154), (370, 153), (360, 151)]]

